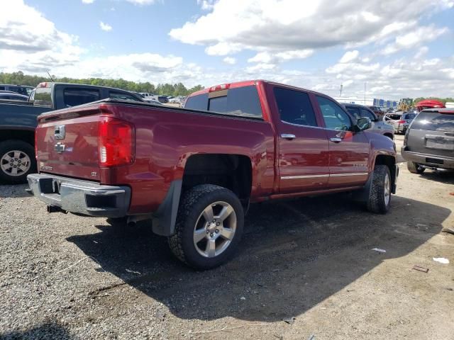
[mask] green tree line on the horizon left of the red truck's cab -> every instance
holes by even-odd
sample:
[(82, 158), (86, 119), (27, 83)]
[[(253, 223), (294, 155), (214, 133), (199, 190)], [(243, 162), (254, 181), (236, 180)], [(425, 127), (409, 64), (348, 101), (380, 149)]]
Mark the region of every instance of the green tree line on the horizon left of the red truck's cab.
[[(135, 81), (128, 81), (125, 79), (103, 79), (103, 78), (86, 78), (86, 79), (74, 79), (74, 78), (57, 78), (52, 76), (54, 81), (62, 83), (72, 83), (72, 84), (88, 84), (88, 85), (98, 85), (98, 86), (109, 86), (116, 89), (123, 89), (133, 92), (148, 92), (149, 94), (165, 94), (168, 96), (187, 96), (192, 94), (192, 92), (199, 91), (204, 89), (204, 86), (197, 85), (190, 89), (187, 89), (186, 86), (182, 83), (177, 84), (151, 84), (146, 81), (144, 83), (136, 83)], [(28, 85), (36, 86), (39, 83), (44, 81), (51, 81), (49, 77), (40, 77), (40, 76), (30, 76), (28, 74), (23, 74), (23, 72), (13, 72), (5, 73), (0, 72), (0, 84), (13, 84), (13, 85)]]

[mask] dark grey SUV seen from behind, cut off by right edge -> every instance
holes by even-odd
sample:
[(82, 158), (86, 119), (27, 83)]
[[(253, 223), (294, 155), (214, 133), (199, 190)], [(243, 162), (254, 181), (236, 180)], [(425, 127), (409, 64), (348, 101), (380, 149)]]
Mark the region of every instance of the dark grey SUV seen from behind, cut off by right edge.
[(406, 130), (402, 157), (413, 174), (454, 169), (454, 109), (421, 111)]

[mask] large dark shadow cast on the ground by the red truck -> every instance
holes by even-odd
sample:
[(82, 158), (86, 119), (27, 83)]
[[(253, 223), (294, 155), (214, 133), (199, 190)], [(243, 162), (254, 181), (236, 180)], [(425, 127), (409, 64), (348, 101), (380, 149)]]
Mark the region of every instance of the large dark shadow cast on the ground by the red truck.
[[(409, 254), (438, 234), (449, 214), (399, 196), (388, 215), (370, 214), (345, 195), (253, 205), (238, 256), (205, 272), (176, 261), (146, 224), (99, 226), (97, 234), (68, 240), (177, 317), (272, 322), (309, 310), (384, 259)], [(101, 290), (109, 289), (116, 287)]]

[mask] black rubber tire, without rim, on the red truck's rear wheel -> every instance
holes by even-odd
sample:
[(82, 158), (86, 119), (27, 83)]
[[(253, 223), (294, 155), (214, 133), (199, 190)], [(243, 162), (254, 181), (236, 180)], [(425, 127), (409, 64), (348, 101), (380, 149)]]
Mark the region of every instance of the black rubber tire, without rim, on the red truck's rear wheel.
[[(214, 257), (204, 257), (199, 254), (194, 244), (194, 230), (200, 222), (202, 212), (209, 205), (214, 205), (217, 202), (227, 203), (233, 208), (236, 217), (236, 229), (230, 243), (221, 254)], [(175, 234), (168, 238), (169, 246), (179, 260), (193, 268), (200, 270), (215, 268), (230, 260), (235, 254), (243, 234), (243, 225), (243, 207), (235, 193), (212, 184), (194, 186), (194, 188), (186, 191), (180, 200)], [(209, 232), (206, 233), (206, 237), (208, 237)], [(204, 239), (202, 239), (202, 242), (204, 242)], [(223, 239), (221, 239), (221, 242), (224, 242)]]

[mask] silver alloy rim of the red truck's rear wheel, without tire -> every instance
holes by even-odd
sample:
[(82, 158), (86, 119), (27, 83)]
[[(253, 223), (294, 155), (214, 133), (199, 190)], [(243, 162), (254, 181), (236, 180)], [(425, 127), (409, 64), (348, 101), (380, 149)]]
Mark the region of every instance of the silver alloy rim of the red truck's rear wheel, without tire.
[(236, 232), (236, 213), (223, 201), (208, 205), (199, 215), (194, 226), (193, 242), (196, 251), (213, 258), (230, 246)]

